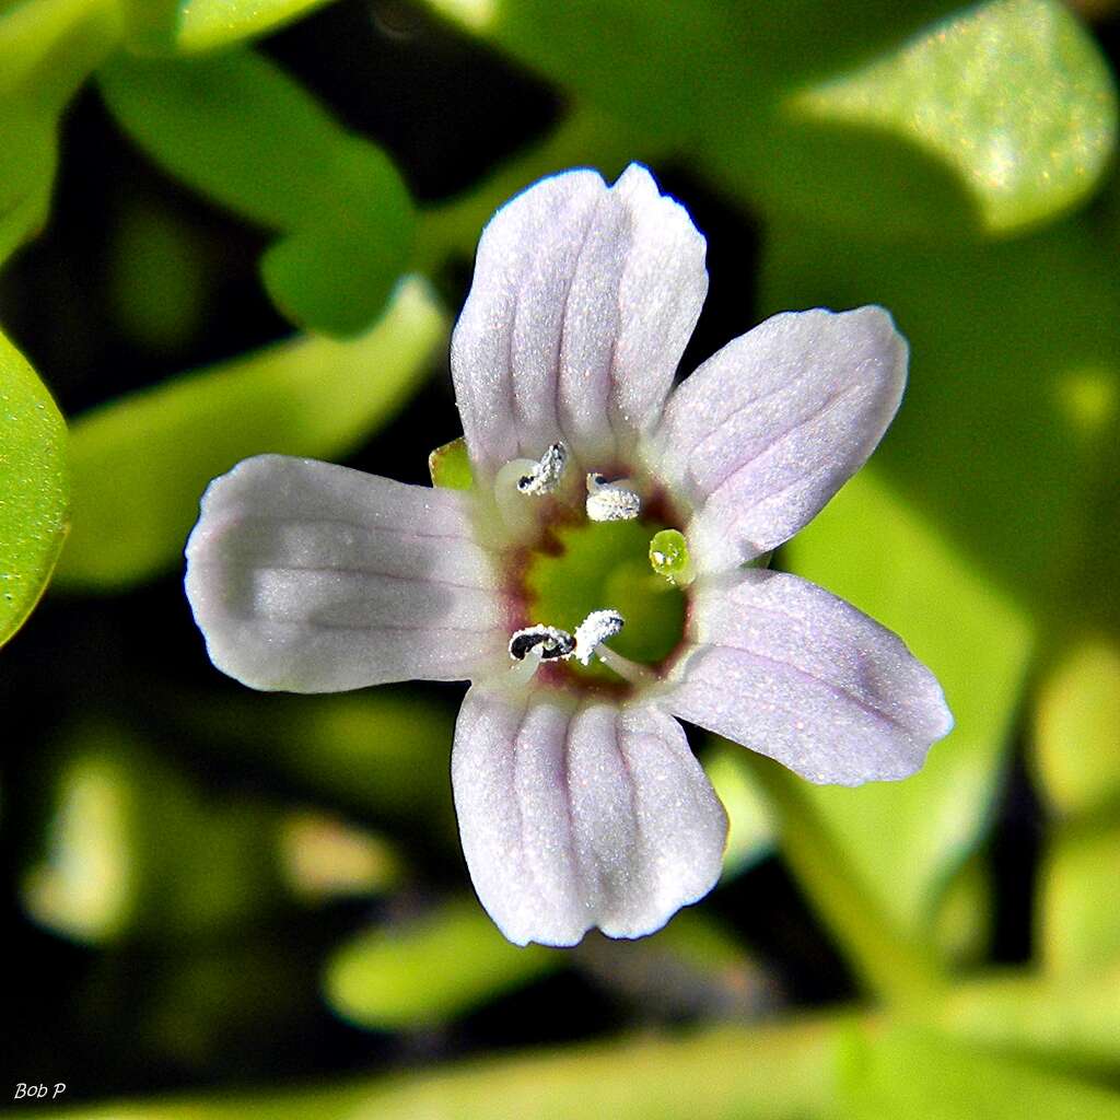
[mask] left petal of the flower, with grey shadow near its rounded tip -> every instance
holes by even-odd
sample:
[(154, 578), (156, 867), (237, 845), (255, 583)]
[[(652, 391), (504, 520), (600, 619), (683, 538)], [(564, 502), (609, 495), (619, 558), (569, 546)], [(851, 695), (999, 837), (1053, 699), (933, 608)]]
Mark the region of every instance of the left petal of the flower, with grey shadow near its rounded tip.
[(465, 501), (314, 459), (240, 463), (211, 483), (187, 542), (211, 660), (289, 692), (504, 664), (505, 604)]

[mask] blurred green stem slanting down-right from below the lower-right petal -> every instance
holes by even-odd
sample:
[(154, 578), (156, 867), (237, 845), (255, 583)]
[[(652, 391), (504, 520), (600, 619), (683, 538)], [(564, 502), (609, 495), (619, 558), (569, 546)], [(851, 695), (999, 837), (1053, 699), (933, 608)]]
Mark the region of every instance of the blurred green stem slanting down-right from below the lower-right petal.
[(816, 812), (803, 780), (752, 750), (741, 757), (771, 804), (786, 861), (867, 987), (885, 1002), (906, 1007), (939, 995), (944, 978), (932, 951), (884, 913)]

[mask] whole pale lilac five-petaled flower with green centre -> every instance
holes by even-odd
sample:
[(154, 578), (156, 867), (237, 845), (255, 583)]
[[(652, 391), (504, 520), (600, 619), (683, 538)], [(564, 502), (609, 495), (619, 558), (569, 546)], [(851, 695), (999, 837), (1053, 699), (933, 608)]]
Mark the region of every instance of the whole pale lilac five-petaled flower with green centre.
[[(870, 455), (906, 343), (877, 307), (777, 315), (673, 389), (704, 244), (642, 167), (536, 184), (483, 233), (452, 337), (473, 488), (261, 456), (187, 545), (211, 657), (245, 684), (472, 682), (459, 830), (519, 944), (640, 936), (711, 889), (727, 819), (678, 718), (844, 785), (905, 777), (952, 726), (898, 637), (749, 567)], [(675, 581), (646, 554), (664, 530)]]

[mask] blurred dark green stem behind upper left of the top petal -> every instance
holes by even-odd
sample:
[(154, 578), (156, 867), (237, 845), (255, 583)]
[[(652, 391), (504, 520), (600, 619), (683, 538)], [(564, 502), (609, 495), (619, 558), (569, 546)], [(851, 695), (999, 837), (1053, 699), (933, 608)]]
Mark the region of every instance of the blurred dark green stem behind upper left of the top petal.
[[(643, 159), (661, 152), (645, 150)], [(503, 203), (530, 184), (570, 167), (595, 167), (614, 177), (638, 158), (633, 142), (609, 118), (577, 106), (539, 144), (487, 176), (469, 194), (419, 214), (412, 270), (431, 276), (450, 255), (474, 256), (478, 234)]]

